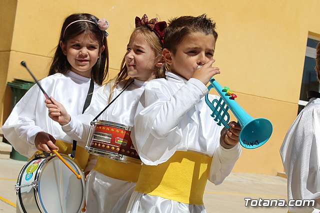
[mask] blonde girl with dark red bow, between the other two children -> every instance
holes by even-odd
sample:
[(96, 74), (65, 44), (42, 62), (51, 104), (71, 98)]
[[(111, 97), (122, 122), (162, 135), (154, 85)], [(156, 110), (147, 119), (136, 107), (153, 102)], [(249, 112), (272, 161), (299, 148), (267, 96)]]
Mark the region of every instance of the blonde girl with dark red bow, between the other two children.
[[(135, 24), (119, 73), (94, 93), (92, 104), (84, 114), (69, 115), (57, 101), (53, 100), (55, 105), (46, 101), (49, 116), (58, 121), (71, 138), (82, 142), (87, 140), (90, 125), (81, 122), (86, 117), (133, 126), (134, 113), (145, 84), (164, 76), (162, 38), (166, 22), (156, 18), (148, 20), (143, 15), (142, 20), (135, 18)], [(102, 112), (105, 105), (108, 107)], [(133, 131), (130, 136), (134, 137)], [(96, 157), (95, 167), (86, 180), (86, 212), (125, 212), (140, 168), (141, 163)]]

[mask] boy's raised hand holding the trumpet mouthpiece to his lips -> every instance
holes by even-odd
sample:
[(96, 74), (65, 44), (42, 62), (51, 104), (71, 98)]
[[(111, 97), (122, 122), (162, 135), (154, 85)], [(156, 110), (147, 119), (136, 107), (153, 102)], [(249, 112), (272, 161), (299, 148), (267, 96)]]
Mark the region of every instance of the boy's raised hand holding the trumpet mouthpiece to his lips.
[(191, 77), (200, 80), (204, 85), (206, 85), (213, 75), (220, 73), (218, 67), (212, 67), (212, 63), (214, 61), (215, 60), (212, 58), (211, 60), (203, 64), (202, 67), (197, 68)]

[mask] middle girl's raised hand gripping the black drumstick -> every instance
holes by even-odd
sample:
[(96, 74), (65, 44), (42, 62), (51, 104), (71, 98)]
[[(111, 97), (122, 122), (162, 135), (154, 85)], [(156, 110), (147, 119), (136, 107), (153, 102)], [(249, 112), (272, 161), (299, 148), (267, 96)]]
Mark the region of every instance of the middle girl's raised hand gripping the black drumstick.
[(48, 99), (44, 100), (44, 102), (46, 103), (45, 106), (49, 109), (49, 117), (52, 120), (57, 121), (60, 125), (65, 125), (70, 122), (71, 117), (67, 113), (63, 105), (51, 96), (50, 99), (52, 100), (53, 104)]

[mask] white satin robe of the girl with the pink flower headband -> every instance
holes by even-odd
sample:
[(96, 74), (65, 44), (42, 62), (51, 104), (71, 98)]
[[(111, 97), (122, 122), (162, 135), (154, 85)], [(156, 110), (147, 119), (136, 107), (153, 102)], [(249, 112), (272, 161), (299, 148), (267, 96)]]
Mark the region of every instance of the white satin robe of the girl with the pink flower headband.
[[(71, 115), (82, 113), (84, 101), (89, 89), (90, 78), (72, 71), (66, 74), (56, 73), (39, 80), (44, 91), (62, 103)], [(94, 83), (94, 89), (98, 87)], [(31, 157), (37, 149), (34, 139), (39, 131), (51, 134), (55, 139), (72, 143), (59, 123), (51, 120), (44, 103), (45, 97), (34, 84), (15, 104), (9, 117), (2, 125), (4, 137), (20, 154)], [(84, 146), (84, 143), (77, 143)]]

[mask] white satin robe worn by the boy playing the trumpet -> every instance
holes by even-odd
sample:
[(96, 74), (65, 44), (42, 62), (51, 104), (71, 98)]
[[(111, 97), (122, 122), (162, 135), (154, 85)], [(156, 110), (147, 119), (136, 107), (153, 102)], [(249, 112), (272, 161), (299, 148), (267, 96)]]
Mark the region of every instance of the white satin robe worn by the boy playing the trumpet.
[[(241, 147), (220, 145), (220, 131), (210, 116), (199, 80), (186, 80), (172, 72), (166, 79), (149, 81), (134, 118), (134, 146), (143, 163), (157, 165), (175, 151), (196, 151), (212, 158), (208, 179), (220, 184), (238, 159)], [(209, 95), (217, 98), (216, 95)], [(204, 205), (186, 204), (134, 191), (127, 212), (205, 212)]]

